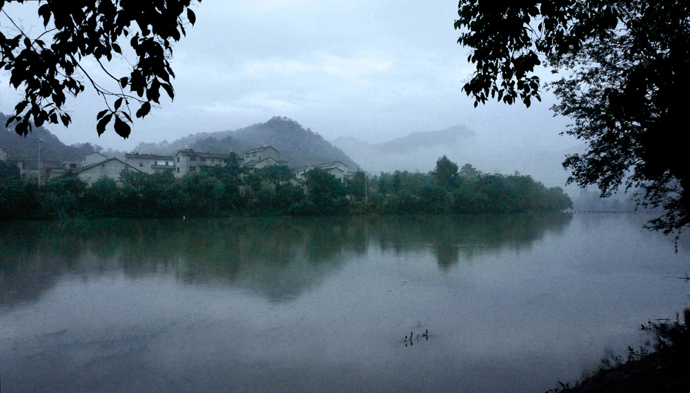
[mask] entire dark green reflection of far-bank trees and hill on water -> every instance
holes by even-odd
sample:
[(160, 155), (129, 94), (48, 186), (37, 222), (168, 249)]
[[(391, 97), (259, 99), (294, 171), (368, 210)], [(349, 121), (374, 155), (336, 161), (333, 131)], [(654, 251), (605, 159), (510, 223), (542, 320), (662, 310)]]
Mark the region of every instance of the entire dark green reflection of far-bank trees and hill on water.
[(568, 214), (308, 219), (21, 221), (0, 223), (0, 304), (37, 299), (63, 274), (175, 276), (233, 285), (271, 300), (319, 285), (375, 246), (431, 250), (440, 266), (511, 249), (563, 230)]

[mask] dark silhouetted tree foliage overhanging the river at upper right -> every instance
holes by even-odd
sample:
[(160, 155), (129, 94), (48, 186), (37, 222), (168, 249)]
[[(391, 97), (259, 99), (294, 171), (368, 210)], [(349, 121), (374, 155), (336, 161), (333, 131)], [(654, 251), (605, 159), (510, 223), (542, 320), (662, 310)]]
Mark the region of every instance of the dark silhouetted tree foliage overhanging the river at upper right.
[(602, 195), (642, 187), (638, 202), (662, 206), (651, 228), (690, 224), (690, 165), (680, 130), (690, 88), (688, 0), (460, 0), (458, 43), (473, 49), (475, 72), (463, 90), (477, 103), (529, 107), (540, 99), (535, 67), (564, 77), (551, 83), (555, 114), (573, 119), (566, 134), (586, 141), (566, 157), (569, 183)]

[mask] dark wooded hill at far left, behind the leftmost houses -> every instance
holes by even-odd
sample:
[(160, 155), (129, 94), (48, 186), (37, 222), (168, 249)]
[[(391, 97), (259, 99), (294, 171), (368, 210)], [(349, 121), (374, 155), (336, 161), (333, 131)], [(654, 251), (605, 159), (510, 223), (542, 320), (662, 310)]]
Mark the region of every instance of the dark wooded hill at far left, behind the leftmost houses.
[(10, 159), (38, 160), (39, 140), (41, 140), (41, 159), (45, 161), (78, 161), (84, 154), (95, 151), (90, 143), (65, 145), (55, 135), (43, 127), (34, 127), (21, 137), (14, 128), (5, 128), (8, 116), (0, 112), (0, 148), (9, 151)]

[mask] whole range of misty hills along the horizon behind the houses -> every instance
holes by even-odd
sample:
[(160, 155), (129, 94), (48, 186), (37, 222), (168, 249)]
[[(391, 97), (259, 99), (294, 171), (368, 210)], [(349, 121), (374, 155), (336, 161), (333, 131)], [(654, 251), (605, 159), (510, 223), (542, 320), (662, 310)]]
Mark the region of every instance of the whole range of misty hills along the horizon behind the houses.
[[(0, 121), (5, 121), (0, 115)], [(99, 147), (88, 143), (66, 146), (42, 127), (26, 138), (13, 130), (0, 134), (0, 148), (10, 150), (10, 157), (25, 159), (37, 156), (37, 139), (43, 139), (43, 159), (76, 161)], [(584, 151), (584, 145), (568, 149), (549, 149), (530, 141), (496, 148), (495, 143), (464, 125), (445, 130), (413, 132), (406, 137), (383, 143), (367, 143), (353, 137), (341, 137), (329, 143), (316, 132), (304, 128), (297, 121), (273, 117), (239, 130), (198, 132), (172, 142), (139, 143), (134, 151), (142, 154), (170, 154), (193, 148), (199, 152), (230, 152), (238, 154), (261, 145), (273, 145), (281, 152), (280, 159), (290, 162), (290, 168), (326, 161), (342, 161), (351, 170), (362, 168), (371, 174), (394, 172), (428, 172), (436, 160), (445, 155), (458, 165), (471, 163), (483, 172), (530, 174), (547, 186), (564, 186), (568, 172), (562, 161), (568, 153)], [(108, 157), (124, 158), (124, 152), (103, 151)], [(574, 187), (571, 191), (576, 192)]]

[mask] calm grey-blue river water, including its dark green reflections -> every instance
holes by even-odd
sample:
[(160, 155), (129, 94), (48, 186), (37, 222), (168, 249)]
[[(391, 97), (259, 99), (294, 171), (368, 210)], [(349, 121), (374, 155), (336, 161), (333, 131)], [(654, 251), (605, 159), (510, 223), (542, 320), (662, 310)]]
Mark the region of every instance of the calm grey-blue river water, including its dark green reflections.
[(649, 218), (0, 223), (1, 389), (541, 393), (689, 305)]

